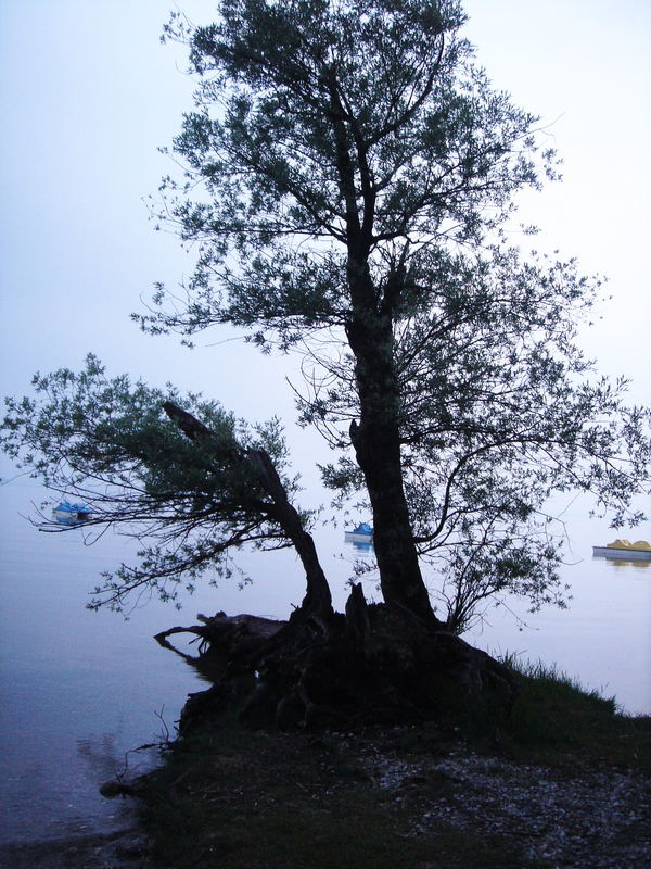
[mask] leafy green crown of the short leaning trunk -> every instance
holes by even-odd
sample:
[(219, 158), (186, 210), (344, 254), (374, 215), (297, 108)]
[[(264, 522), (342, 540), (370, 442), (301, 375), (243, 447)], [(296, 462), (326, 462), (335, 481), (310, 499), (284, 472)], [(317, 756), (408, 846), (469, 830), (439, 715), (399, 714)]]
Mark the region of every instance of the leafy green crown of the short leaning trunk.
[[(247, 451), (265, 451), (283, 474), (278, 420), (252, 429), (216, 402), (127, 376), (110, 379), (92, 355), (79, 374), (36, 375), (33, 386), (33, 398), (7, 400), (5, 452), (48, 489), (86, 501), (89, 532), (116, 527), (143, 543), (139, 565), (105, 575), (92, 607), (122, 612), (135, 593), (151, 591), (176, 601), (183, 580), (192, 590), (207, 570), (213, 579), (230, 576), (233, 549), (290, 545), (259, 475), (244, 461)], [(164, 412), (171, 403), (201, 415), (214, 440), (190, 439)], [(283, 484), (295, 491), (284, 474)], [(44, 515), (41, 527), (65, 530)]]

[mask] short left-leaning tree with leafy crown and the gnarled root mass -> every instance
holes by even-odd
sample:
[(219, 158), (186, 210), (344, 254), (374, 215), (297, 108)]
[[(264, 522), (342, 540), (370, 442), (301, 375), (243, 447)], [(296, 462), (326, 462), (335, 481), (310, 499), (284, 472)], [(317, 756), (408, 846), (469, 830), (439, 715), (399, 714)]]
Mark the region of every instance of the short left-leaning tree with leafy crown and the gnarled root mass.
[[(345, 615), (333, 612), (309, 516), (290, 502), (296, 483), (276, 420), (252, 431), (214, 402), (107, 379), (94, 356), (80, 374), (37, 375), (34, 387), (36, 398), (7, 400), (4, 450), (50, 490), (88, 498), (88, 529), (115, 524), (148, 542), (138, 568), (105, 575), (91, 608), (122, 610), (143, 590), (176, 600), (183, 577), (191, 590), (208, 568), (229, 575), (230, 550), (246, 544), (293, 545), (301, 557), (307, 590), (289, 621), (218, 613), (156, 635), (214, 682), (189, 700), (184, 729), (233, 706), (282, 726), (441, 716), (445, 679), (513, 700), (503, 665), (404, 607), (368, 607), (359, 584)], [(65, 530), (41, 519), (42, 530)], [(201, 638), (200, 655), (173, 646), (177, 633)]]

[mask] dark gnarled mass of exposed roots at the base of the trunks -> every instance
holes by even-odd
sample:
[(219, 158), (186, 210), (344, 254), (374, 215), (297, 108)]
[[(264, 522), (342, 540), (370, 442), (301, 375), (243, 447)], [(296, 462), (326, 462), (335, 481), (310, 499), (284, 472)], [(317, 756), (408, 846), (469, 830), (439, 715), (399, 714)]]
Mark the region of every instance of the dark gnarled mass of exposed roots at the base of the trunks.
[[(156, 635), (213, 687), (191, 694), (181, 733), (225, 711), (259, 727), (335, 728), (450, 721), (469, 709), (508, 715), (518, 693), (511, 670), (407, 610), (367, 605), (353, 589), (345, 614), (296, 610), (289, 621), (250, 615), (197, 617), (201, 625)], [(169, 637), (200, 638), (199, 654)]]

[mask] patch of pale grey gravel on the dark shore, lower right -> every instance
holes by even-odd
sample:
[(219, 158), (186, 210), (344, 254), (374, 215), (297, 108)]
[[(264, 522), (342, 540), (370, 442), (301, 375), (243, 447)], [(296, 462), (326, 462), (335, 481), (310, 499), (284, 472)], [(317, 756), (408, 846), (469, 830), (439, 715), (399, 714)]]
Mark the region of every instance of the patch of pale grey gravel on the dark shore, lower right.
[[(414, 835), (445, 821), (511, 840), (554, 869), (651, 867), (651, 782), (642, 776), (585, 770), (567, 777), (468, 753), (422, 763), (379, 754), (362, 763), (396, 803), (410, 803), (412, 813), (418, 803)], [(437, 786), (423, 795), (432, 782)]]

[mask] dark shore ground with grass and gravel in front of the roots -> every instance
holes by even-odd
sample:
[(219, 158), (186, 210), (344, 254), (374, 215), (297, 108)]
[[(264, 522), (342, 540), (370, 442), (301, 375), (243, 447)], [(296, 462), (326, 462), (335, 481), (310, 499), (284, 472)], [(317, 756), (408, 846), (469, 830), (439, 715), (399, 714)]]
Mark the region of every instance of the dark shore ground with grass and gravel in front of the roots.
[(435, 721), (288, 732), (213, 720), (125, 785), (138, 798), (124, 803), (124, 829), (0, 845), (0, 869), (651, 860), (651, 717), (622, 715), (558, 673), (520, 678), (521, 706), (499, 734)]

